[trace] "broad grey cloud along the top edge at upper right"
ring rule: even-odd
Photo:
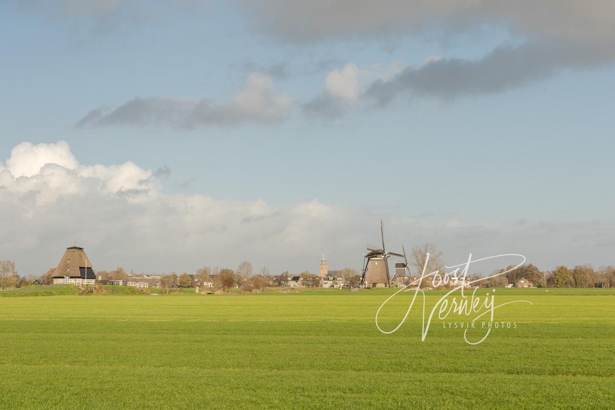
[[[240,4],[262,31],[292,42],[426,31],[453,35],[485,23],[534,39],[615,37],[611,0],[241,0]]]

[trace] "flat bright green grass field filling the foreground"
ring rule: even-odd
[[[0,298],[0,409],[615,406],[615,289],[499,289],[533,305],[498,309],[517,328],[475,346],[438,319],[421,342],[420,305],[380,333],[392,292]]]

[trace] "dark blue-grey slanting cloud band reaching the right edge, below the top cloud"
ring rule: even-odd
[[[379,104],[397,96],[457,98],[500,93],[546,79],[561,69],[592,68],[615,60],[611,44],[526,42],[501,45],[478,60],[443,58],[376,80],[365,95]]]

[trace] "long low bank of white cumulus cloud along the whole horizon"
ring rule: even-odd
[[[6,168],[0,165],[0,258],[14,259],[21,274],[42,274],[54,267],[63,248],[74,241],[86,248],[96,269],[121,265],[181,272],[206,264],[234,268],[247,259],[273,273],[315,271],[322,249],[331,268],[360,269],[365,244],[379,240],[381,217],[387,220],[390,249],[435,242],[454,263],[469,252],[523,253],[542,269],[558,263],[613,263],[615,230],[600,222],[403,218],[351,211],[317,199],[274,206],[261,200],[169,195],[154,172],[132,162],[81,164],[66,142],[24,142],[6,163]]]

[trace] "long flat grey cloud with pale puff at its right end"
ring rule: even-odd
[[[226,103],[206,99],[135,97],[115,109],[91,110],[76,123],[83,126],[234,126],[242,123],[279,123],[288,114],[292,100],[277,95],[273,82],[263,74],[252,74],[243,90]]]

